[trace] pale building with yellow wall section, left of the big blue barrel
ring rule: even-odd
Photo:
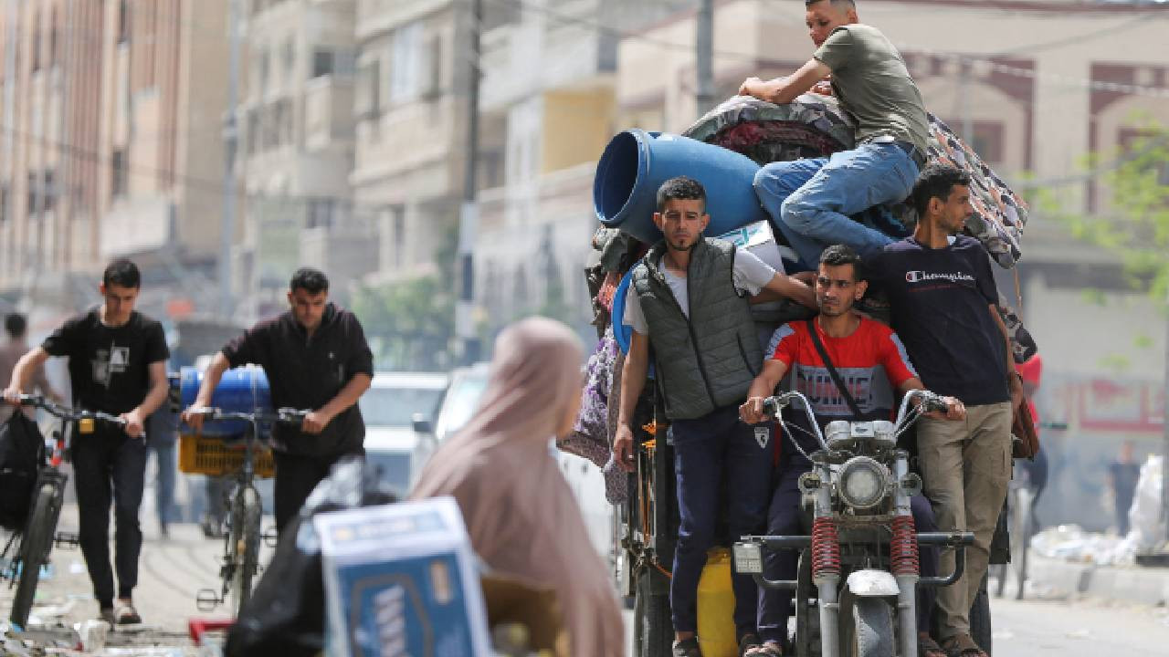
[[[479,321],[489,336],[534,312],[586,331],[593,174],[617,129],[620,34],[678,6],[526,2],[485,33],[480,108],[490,130],[480,158],[487,188],[479,199],[475,264]]]

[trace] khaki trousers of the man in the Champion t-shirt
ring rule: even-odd
[[[962,579],[938,589],[939,639],[970,632],[970,606],[987,574],[990,539],[1011,478],[1010,402],[971,406],[964,421],[918,422],[926,497],[943,532],[974,532]],[[941,553],[939,574],[954,572],[955,549]]]

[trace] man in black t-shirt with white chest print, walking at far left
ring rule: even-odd
[[[69,359],[72,402],[126,421],[125,428],[97,422],[92,434],[74,433],[74,484],[81,519],[81,551],[94,582],[101,617],[110,623],[139,623],[131,592],[138,583],[143,533],[138,507],[143,499],[146,441],[143,424],[164,401],[170,352],[162,325],[137,311],[141,288],[138,267],[125,258],[110,263],[98,291],[102,305],[65,321],[40,347],[16,364],[5,400],[15,402],[33,373],[50,355]],[[110,502],[113,502],[117,607],[110,569]]]

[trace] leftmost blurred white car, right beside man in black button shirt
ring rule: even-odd
[[[378,372],[358,406],[366,424],[366,462],[381,469],[381,478],[406,497],[421,465],[414,463],[420,443],[447,393],[448,376],[438,373]]]

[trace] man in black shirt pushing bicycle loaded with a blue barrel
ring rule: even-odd
[[[328,303],[328,279],[316,269],[298,269],[289,284],[291,309],[265,319],[215,354],[203,373],[195,402],[182,419],[195,430],[212,393],[230,367],[264,368],[277,408],[312,413],[299,428],[272,428],[276,456],[276,531],[283,532],[312,489],[340,457],[362,455],[365,422],[358,399],[373,380],[373,353],[361,323]]]

